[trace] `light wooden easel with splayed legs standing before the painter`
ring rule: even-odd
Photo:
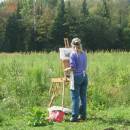
[[[69,41],[68,38],[64,38],[64,45],[65,48],[69,48]],[[67,67],[68,61],[62,61],[63,68],[65,69]],[[53,101],[55,98],[59,95],[62,95],[62,107],[64,106],[64,95],[65,95],[65,85],[69,82],[69,80],[66,78],[65,74],[64,77],[57,77],[51,79],[51,87],[49,90],[49,95],[51,95],[51,100],[48,104],[49,107],[52,106]]]

